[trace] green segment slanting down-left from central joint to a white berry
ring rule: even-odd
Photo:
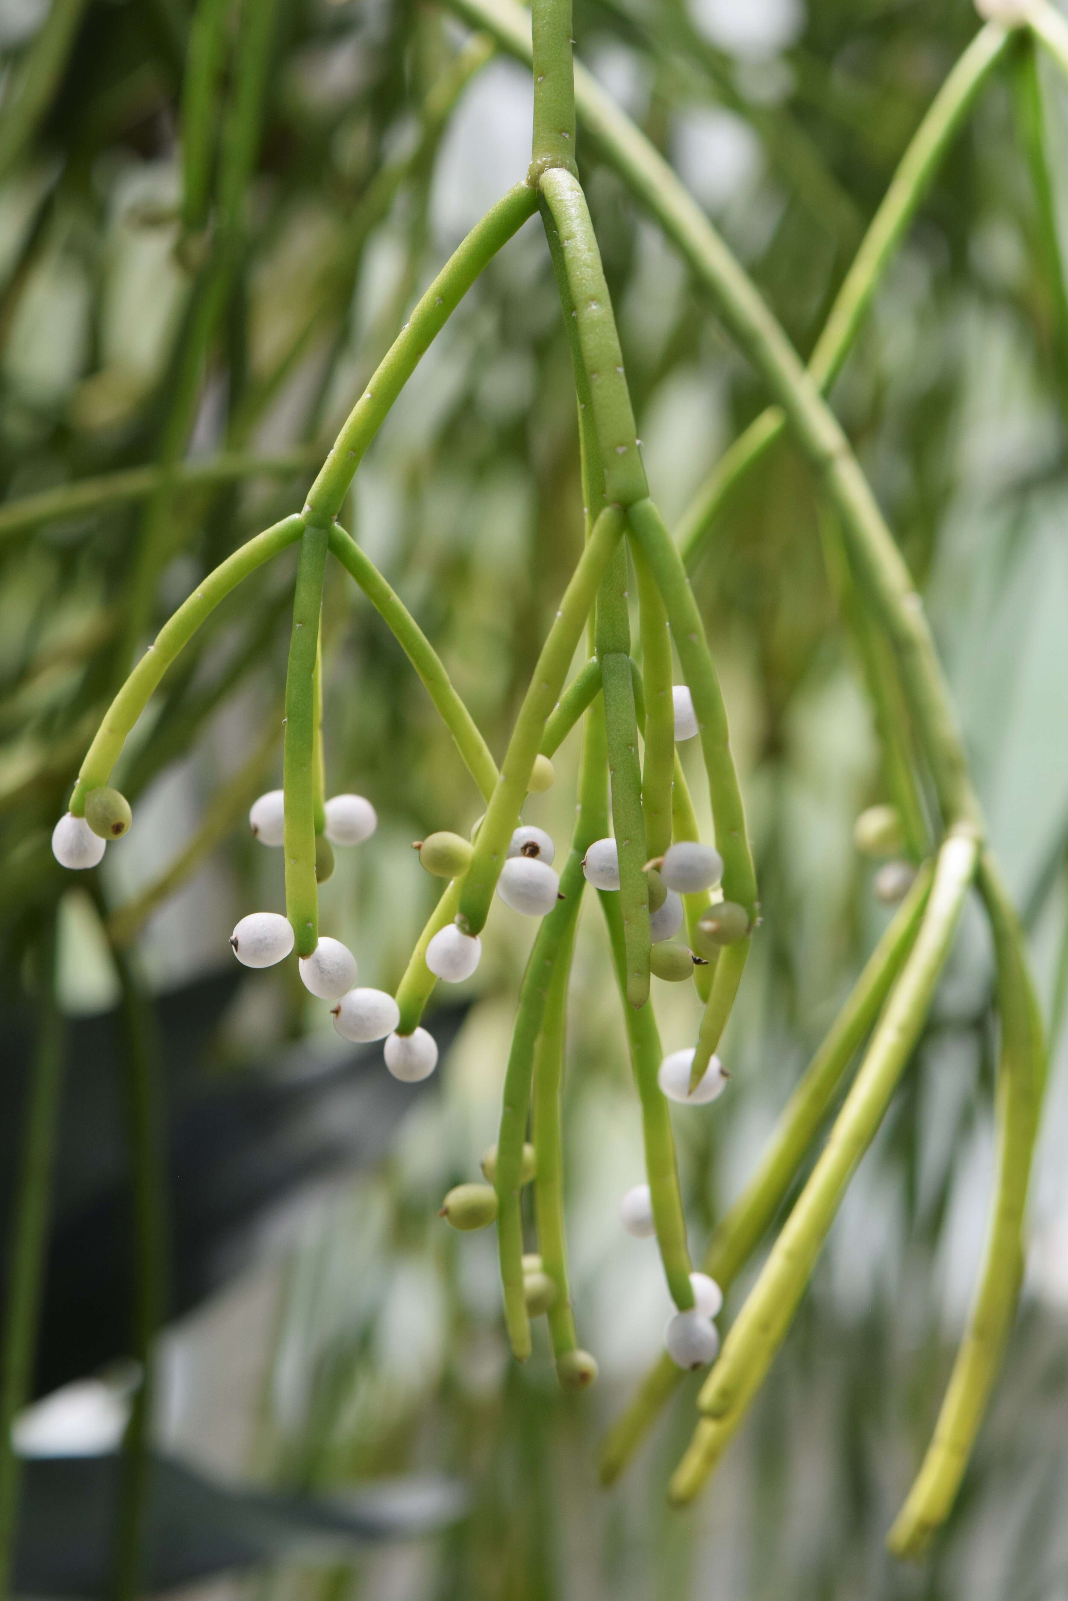
[[[496,879],[504,865],[519,809],[530,788],[530,770],[544,736],[549,716],[560,696],[567,669],[594,604],[597,586],[623,532],[623,516],[607,508],[583,549],[560,608],[541,647],[530,687],[516,719],[501,762],[501,778],[487,807],[460,897],[460,916],[469,933],[480,933],[490,911]]]

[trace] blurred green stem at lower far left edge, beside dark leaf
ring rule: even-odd
[[[48,1246],[48,1198],[62,1092],[64,1023],[56,1004],[54,917],[50,917],[30,954],[37,1039],[24,1090],[0,1350],[0,1601],[8,1601],[11,1593],[21,1481],[11,1428],[29,1401],[34,1383]]]

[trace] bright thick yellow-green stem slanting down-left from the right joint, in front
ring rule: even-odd
[[[713,1471],[786,1335],[845,1186],[916,1047],[977,860],[978,844],[970,833],[950,834],[938,852],[916,943],[865,1061],[823,1154],[701,1390],[698,1406],[705,1420],[671,1479],[676,1503],[692,1500]]]

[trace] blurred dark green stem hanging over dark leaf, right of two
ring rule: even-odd
[[[125,1101],[133,1180],[133,1356],[141,1367],[141,1383],[123,1439],[114,1596],[115,1601],[135,1601],[141,1590],[152,1468],[154,1343],[167,1316],[168,1295],[167,1140],[160,1103],[162,1049],[155,1015],[131,959],[115,946],[112,956],[122,985]]]

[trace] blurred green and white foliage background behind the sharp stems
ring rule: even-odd
[[[227,11],[224,115],[255,10],[235,0]],[[291,560],[219,610],[154,701],[118,776],[136,823],[99,884],[74,884],[51,863],[48,833],[114,684],[147,519],[163,528],[146,618],[159,623],[242,538],[299,508],[315,451],[415,296],[528,160],[528,75],[488,48],[468,43],[458,58],[469,35],[447,13],[407,0],[267,10],[232,264],[189,376],[183,355],[221,248],[218,223],[213,234],[181,218],[194,6],[0,0],[0,517],[22,496],[154,461],[290,461],[239,482],[179,484],[162,503],[0,527],[8,1191],[34,1025],[27,953],[53,908],[69,1020],[38,1399],[19,1418],[19,1451],[30,1462],[112,1451],[138,1383],[118,949],[155,999],[170,1130],[160,1452],[213,1483],[271,1492],[271,1507],[290,1494],[344,1505],[360,1486],[412,1475],[469,1494],[468,1516],[445,1532],[351,1548],[279,1534],[269,1563],[205,1577],[191,1595],[1060,1601],[1068,1061],[1055,1033],[1006,1370],[932,1555],[901,1567],[882,1553],[982,1244],[993,1033],[978,916],[966,919],[748,1425],[700,1503],[674,1513],[663,1491],[689,1436],[690,1385],[624,1481],[596,1484],[597,1439],[658,1353],[669,1311],[655,1247],[618,1223],[620,1194],[642,1177],[640,1127],[596,906],[581,922],[565,1087],[576,1313],[600,1364],[581,1398],[557,1391],[543,1334],[522,1372],[509,1361],[492,1231],[460,1238],[436,1215],[495,1137],[530,925],[495,906],[476,980],[431,1025],[452,1044],[420,1092],[395,1093],[375,1049],[344,1047],[291,964],[234,970],[235,919],[282,905],[279,853],[255,844],[243,817],[280,780]],[[575,11],[578,56],[668,154],[805,354],[977,26],[964,0],[578,0]],[[19,74],[40,62],[48,27],[59,38],[51,78],[16,138]],[[1058,184],[1068,90],[1046,64],[1041,83]],[[434,93],[440,115],[420,134]],[[1063,352],[1018,134],[1002,72],[887,272],[833,403],[925,592],[1057,1031],[1068,981]],[[588,147],[578,158],[650,482],[673,520],[767,397],[615,175]],[[570,365],[536,219],[421,363],[346,516],[500,756],[581,540]],[[887,913],[850,841],[857,813],[885,799],[871,711],[823,572],[815,485],[789,442],[716,525],[695,588],[764,905],[725,1042],[730,1093],[676,1116],[700,1250]],[[379,828],[338,853],[323,929],[355,951],[363,983],[392,988],[434,893],[410,842],[466,833],[479,797],[338,568],[325,648],[328,791],[367,794]],[[570,833],[575,744],[525,813],[557,845]],[[693,780],[695,756],[685,751]],[[701,783],[693,789],[700,797]],[[173,863],[173,885],[160,885]],[[695,997],[655,988],[666,1044],[689,1042]],[[58,1539],[59,1523],[51,1529]]]

